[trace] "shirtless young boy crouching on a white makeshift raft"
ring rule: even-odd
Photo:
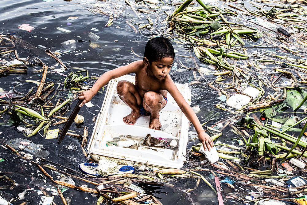
[[[167,93],[174,98],[182,112],[194,125],[199,141],[204,150],[210,151],[213,141],[204,132],[196,114],[177,89],[169,71],[172,67],[175,52],[167,38],[156,37],[149,40],[145,46],[144,58],[116,69],[103,73],[89,90],[79,94],[83,100],[80,107],[89,102],[92,97],[111,79],[135,73],[135,85],[128,81],[119,81],[117,93],[130,108],[131,113],[123,118],[126,124],[134,125],[140,115],[150,116],[149,128],[158,130],[161,127],[159,112],[167,103]]]

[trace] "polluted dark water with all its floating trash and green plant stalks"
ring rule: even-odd
[[[305,204],[305,0],[0,5],[0,204]],[[189,85],[218,160],[203,154],[192,125],[180,169],[88,153],[107,85],[58,144],[78,93],[142,60],[157,36],[174,47],[169,75]],[[178,149],[147,134],[104,143]]]

